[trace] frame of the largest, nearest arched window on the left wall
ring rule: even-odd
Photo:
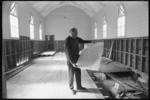
[[[14,6],[13,6],[13,8],[11,9],[11,7],[12,7],[12,5],[14,4]],[[11,11],[14,9],[14,7],[15,7],[15,11],[16,11],[16,15],[15,14],[12,14],[11,13]],[[16,37],[16,36],[12,36],[12,32],[11,32],[11,28],[12,28],[12,26],[11,26],[11,19],[10,19],[10,16],[13,16],[13,17],[16,17],[17,18],[17,22],[18,22],[18,36]],[[10,38],[11,39],[19,39],[20,38],[20,25],[19,25],[19,16],[18,16],[18,4],[17,4],[17,2],[11,2],[10,3],[10,6],[9,6],[9,11],[8,11],[8,21],[9,21],[9,32],[10,32],[10,34],[9,34],[9,36],[10,36]]]

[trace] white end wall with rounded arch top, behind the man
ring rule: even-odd
[[[91,18],[81,9],[63,6],[52,11],[45,18],[47,35],[54,35],[55,40],[64,40],[72,27],[78,29],[78,36],[91,39]]]

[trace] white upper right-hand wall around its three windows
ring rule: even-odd
[[[121,2],[120,2],[121,3]],[[119,4],[119,3],[118,3]],[[98,39],[103,39],[103,16],[105,15],[108,21],[108,35],[107,38],[117,37],[117,17],[118,4],[110,4],[99,11],[92,19],[98,24]],[[148,33],[148,2],[146,1],[124,1],[124,7],[127,12],[127,24],[125,37],[144,37],[149,36]],[[92,27],[92,35],[94,39],[94,27]]]

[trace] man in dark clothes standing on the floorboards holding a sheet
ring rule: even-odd
[[[70,35],[65,40],[65,53],[67,56],[67,65],[69,68],[69,88],[72,93],[75,94],[73,79],[74,74],[76,78],[76,84],[78,90],[86,90],[86,88],[81,85],[81,69],[77,68],[77,61],[79,58],[79,43],[91,43],[92,41],[86,41],[78,37],[78,31],[76,28],[72,28]]]

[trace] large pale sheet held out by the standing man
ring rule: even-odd
[[[98,71],[100,67],[101,56],[103,53],[103,43],[87,43],[80,52],[77,66],[81,69]]]

